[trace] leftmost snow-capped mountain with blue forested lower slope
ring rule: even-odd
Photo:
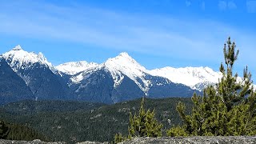
[[[67,98],[67,86],[42,53],[29,53],[21,46],[15,46],[2,54],[2,58],[26,82],[36,99]]]

